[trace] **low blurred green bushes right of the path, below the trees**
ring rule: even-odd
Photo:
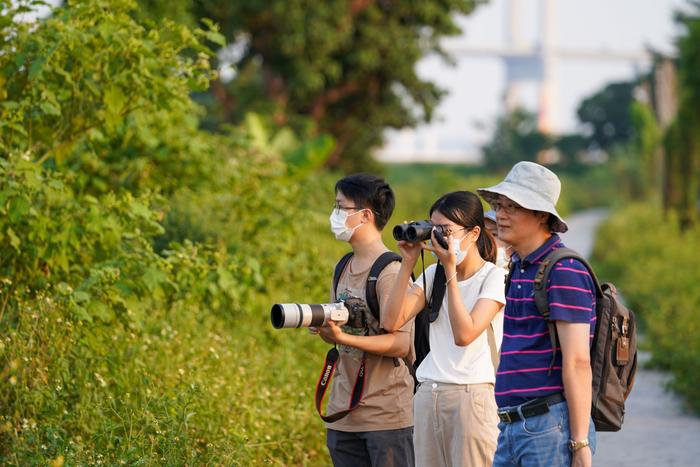
[[[659,207],[630,205],[601,227],[594,248],[599,276],[614,281],[637,313],[653,363],[700,413],[700,229],[680,232]]]

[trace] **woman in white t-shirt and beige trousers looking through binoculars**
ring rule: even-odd
[[[444,234],[447,248],[435,231],[430,245],[398,242],[403,262],[383,322],[387,331],[399,329],[426,306],[437,265],[413,285],[410,279],[421,249],[433,252],[444,268],[438,280],[446,282],[442,303],[435,303],[431,313],[430,352],[416,370],[416,464],[491,465],[498,438],[494,365],[502,340],[506,271],[493,264],[496,243],[474,193],[442,196],[430,208],[430,220],[440,227],[434,230]]]

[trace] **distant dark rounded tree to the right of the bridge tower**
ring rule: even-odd
[[[634,102],[634,87],[633,82],[611,83],[581,102],[577,114],[590,133],[591,144],[609,150],[632,138],[630,106]]]

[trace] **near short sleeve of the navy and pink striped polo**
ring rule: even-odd
[[[573,258],[559,261],[549,275],[547,301],[550,319],[589,323],[595,315],[595,287],[586,266]]]

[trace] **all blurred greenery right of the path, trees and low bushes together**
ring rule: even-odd
[[[633,137],[613,148],[619,183],[636,203],[611,215],[594,255],[601,276],[620,286],[641,318],[652,363],[671,371],[672,387],[700,413],[700,270],[692,262],[700,247],[700,3],[677,19],[678,59],[660,59],[643,80],[648,102],[630,107]],[[677,88],[658,78],[676,70]],[[669,91],[677,102],[668,101]],[[664,105],[677,104],[675,116],[654,113],[663,113],[659,95]]]

